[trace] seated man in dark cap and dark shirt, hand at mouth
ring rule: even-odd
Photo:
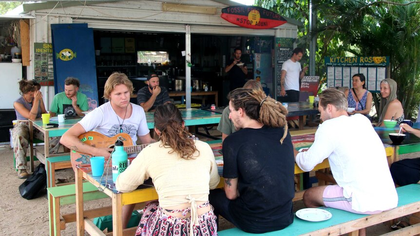
[[[154,110],[157,106],[170,103],[168,90],[159,86],[159,77],[156,73],[147,76],[147,86],[137,92],[137,104],[145,112]]]

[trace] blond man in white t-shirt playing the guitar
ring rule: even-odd
[[[92,156],[110,157],[111,148],[86,145],[78,136],[87,131],[96,131],[108,137],[118,133],[128,133],[135,144],[137,137],[142,144],[155,143],[149,134],[146,114],[142,107],[130,103],[133,94],[133,83],[124,73],[113,73],[105,83],[104,98],[109,102],[101,105],[76,125],[67,130],[60,139],[60,143],[72,150]],[[134,205],[123,207],[123,225],[126,227]]]

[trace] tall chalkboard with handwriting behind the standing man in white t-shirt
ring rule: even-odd
[[[282,66],[283,63],[290,59],[293,54],[293,42],[295,38],[277,37],[275,50],[276,50],[276,94],[280,96],[282,91]]]

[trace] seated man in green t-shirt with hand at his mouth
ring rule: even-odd
[[[75,77],[67,77],[64,80],[64,92],[57,93],[54,96],[50,107],[51,116],[64,114],[69,116],[83,116],[83,111],[89,109],[88,99],[85,94],[77,92],[80,82]]]

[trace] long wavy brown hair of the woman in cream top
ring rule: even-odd
[[[160,105],[154,111],[154,127],[161,133],[159,140],[162,141],[161,147],[171,147],[169,154],[178,153],[181,158],[186,160],[195,159],[200,155],[194,144],[194,140],[190,139],[191,133],[187,132],[183,126],[181,112],[172,103]],[[197,156],[194,153],[197,151]]]

